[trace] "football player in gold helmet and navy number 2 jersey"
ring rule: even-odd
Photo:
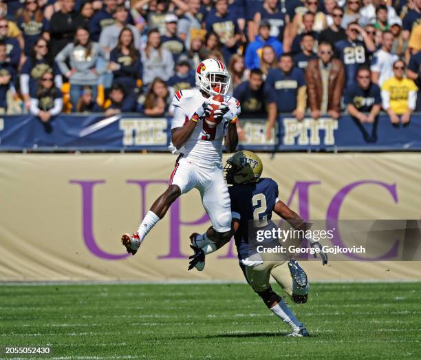
[[[228,188],[231,200],[232,227],[235,238],[235,245],[239,257],[239,266],[246,277],[248,284],[261,297],[263,302],[270,308],[272,313],[277,315],[286,324],[290,325],[292,332],[290,336],[309,336],[305,326],[296,319],[292,310],[288,308],[282,297],[272,290],[270,286],[270,275],[283,288],[292,301],[305,303],[307,301],[308,281],[307,275],[294,259],[288,261],[288,255],[265,256],[264,253],[255,251],[254,234],[250,236],[250,220],[254,221],[254,228],[268,229],[274,224],[270,221],[272,211],[287,220],[294,229],[307,230],[306,222],[292,211],[278,198],[278,185],[270,178],[260,178],[263,171],[263,164],[255,153],[251,151],[239,151],[227,160],[224,167],[226,180],[233,186]],[[323,253],[321,244],[307,239],[312,248],[316,248],[321,255],[323,265],[327,264],[327,256]],[[191,235],[191,248],[195,251],[191,255],[190,266],[204,267],[205,256],[215,251],[210,246],[201,246],[201,238],[197,233]],[[268,239],[268,242],[274,242]],[[222,247],[226,242],[217,244]],[[262,243],[259,243],[262,244]],[[316,255],[314,255],[315,257]],[[287,270],[289,268],[289,271]],[[291,282],[292,277],[292,282]]]

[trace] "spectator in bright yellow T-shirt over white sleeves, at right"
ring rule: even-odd
[[[393,63],[394,76],[382,85],[382,106],[389,114],[392,124],[409,123],[417,104],[418,87],[412,80],[404,77],[405,63],[396,60]],[[400,116],[400,118],[399,118]]]

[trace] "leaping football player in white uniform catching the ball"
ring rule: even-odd
[[[228,151],[237,147],[237,116],[239,101],[226,95],[230,74],[222,61],[206,59],[196,70],[199,89],[182,90],[173,98],[174,115],[171,124],[170,150],[178,153],[171,173],[169,187],[155,200],[151,209],[133,235],[122,235],[127,252],[135,254],[144,237],[164,217],[171,204],[182,194],[195,188],[202,197],[204,209],[212,226],[195,238],[199,248],[216,249],[216,243],[226,242],[232,235],[230,195],[222,172],[222,142]],[[213,96],[222,95],[224,101],[215,103]],[[217,109],[212,105],[219,105]],[[206,122],[212,114],[215,124]],[[220,121],[220,123],[218,123]],[[199,270],[204,262],[196,266]]]

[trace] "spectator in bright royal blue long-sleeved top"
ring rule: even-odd
[[[248,69],[260,67],[261,48],[264,45],[271,45],[277,57],[281,56],[283,53],[282,43],[273,36],[270,36],[270,23],[267,20],[260,21],[259,35],[256,36],[255,41],[248,44],[248,47],[246,48],[244,61]]]

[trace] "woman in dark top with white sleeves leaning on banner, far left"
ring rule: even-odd
[[[61,91],[54,86],[54,74],[47,70],[40,78],[36,96],[31,97],[30,113],[38,116],[43,123],[48,123],[62,109]]]

